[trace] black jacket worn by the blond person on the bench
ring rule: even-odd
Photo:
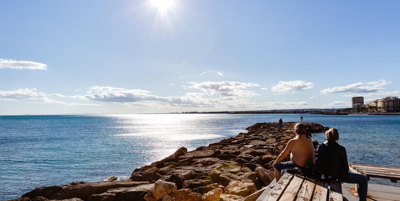
[[[316,173],[324,174],[339,179],[340,181],[352,181],[349,175],[346,148],[337,142],[324,142],[318,148],[318,157],[314,168]]]

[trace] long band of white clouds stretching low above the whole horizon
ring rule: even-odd
[[[381,86],[389,84],[386,80],[378,80],[368,82],[369,86],[363,86],[361,82],[349,84],[344,87],[333,87],[320,90],[321,94],[334,93],[350,93],[360,92],[368,93],[364,96],[376,96],[382,94],[400,94],[400,91],[379,92],[372,94],[370,92],[378,92],[384,90]],[[120,104],[123,107],[129,108],[259,108],[259,109],[299,109],[309,106],[307,101],[254,101],[252,98],[260,96],[254,90],[260,87],[260,84],[249,82],[187,82],[188,85],[181,86],[187,92],[183,95],[175,96],[156,96],[150,91],[140,89],[115,88],[108,86],[93,86],[84,95],[63,95],[60,93],[46,94],[45,92],[36,92],[36,88],[24,88],[14,91],[0,91],[0,101],[30,101],[39,103],[51,103],[59,105],[81,105],[81,106],[108,106],[109,103]],[[171,84],[170,84],[171,85]],[[171,85],[172,86],[172,85]],[[272,92],[292,92],[305,91],[312,88],[314,85],[311,82],[304,81],[281,81],[271,88]],[[192,92],[196,90],[197,92]],[[260,88],[260,90],[268,90]],[[74,90],[79,92],[80,90]],[[359,94],[346,94],[359,95]],[[345,96],[346,96],[345,95]],[[279,96],[279,94],[275,94]],[[74,103],[68,101],[54,100],[54,98],[78,99],[85,102]],[[309,100],[315,100],[312,96]],[[372,100],[372,99],[371,99]],[[100,102],[100,103],[96,103]],[[350,102],[333,101],[324,103],[322,108],[340,108],[348,107]]]

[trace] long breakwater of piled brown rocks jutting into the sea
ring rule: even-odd
[[[137,168],[124,181],[75,182],[40,187],[18,201],[236,201],[274,179],[272,164],[295,134],[296,122],[256,123],[247,133],[172,155]],[[304,123],[308,133],[326,131]],[[314,145],[318,145],[314,141]],[[286,158],[290,160],[290,158]]]

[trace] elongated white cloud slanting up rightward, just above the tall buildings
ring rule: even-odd
[[[384,88],[380,88],[380,86],[384,86],[390,82],[386,82],[385,80],[378,80],[376,82],[368,82],[368,85],[372,86],[363,86],[362,82],[357,82],[353,84],[349,84],[342,87],[333,87],[321,90],[322,94],[336,94],[336,93],[370,93],[370,92],[378,92],[385,90]]]

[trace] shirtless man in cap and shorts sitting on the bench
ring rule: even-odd
[[[306,126],[302,123],[294,125],[294,133],[296,137],[288,141],[285,149],[279,154],[272,167],[275,170],[276,182],[280,179],[282,169],[295,167],[312,167],[315,163],[314,145],[311,139],[306,137]],[[290,152],[290,160],[288,162],[279,163]]]

